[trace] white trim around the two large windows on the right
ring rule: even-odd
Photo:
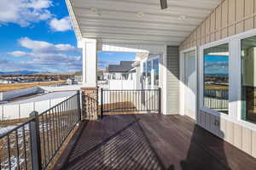
[[[200,46],[199,52],[199,109],[214,116],[219,116],[230,122],[247,127],[256,131],[256,124],[241,120],[241,39],[256,36],[256,29],[241,32],[231,37],[226,37],[216,42],[210,42]],[[230,59],[229,59],[229,115],[208,109],[203,106],[203,50],[229,42]],[[232,102],[232,100],[235,100]]]

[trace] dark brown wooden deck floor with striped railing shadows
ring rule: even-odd
[[[241,169],[256,160],[185,116],[111,115],[83,122],[55,169]]]

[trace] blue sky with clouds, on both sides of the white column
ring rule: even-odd
[[[81,49],[76,47],[64,0],[0,1],[0,71],[79,71]],[[98,53],[100,68],[134,58]]]

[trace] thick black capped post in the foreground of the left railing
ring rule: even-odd
[[[38,112],[32,111],[29,115],[32,122],[30,122],[30,138],[31,138],[31,150],[32,150],[32,169],[42,169],[41,158],[41,144],[40,144],[40,131],[39,131],[39,118]]]

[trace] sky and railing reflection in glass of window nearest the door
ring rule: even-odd
[[[229,113],[229,43],[204,49],[204,106]]]

